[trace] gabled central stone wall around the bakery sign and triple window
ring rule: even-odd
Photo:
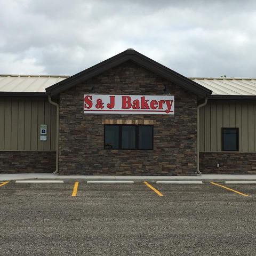
[[[84,114],[84,94],[170,94],[175,97],[175,115]],[[109,69],[60,93],[59,172],[195,175],[196,108],[195,94],[183,91],[178,85],[133,62]],[[134,123],[137,120],[140,124],[145,119],[154,123],[154,150],[103,149],[104,120],[113,123]]]

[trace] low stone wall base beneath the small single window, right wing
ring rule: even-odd
[[[200,171],[204,174],[256,174],[256,153],[201,152],[199,158]]]

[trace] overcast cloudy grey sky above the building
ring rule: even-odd
[[[255,0],[0,0],[0,35],[0,74],[73,75],[133,48],[185,76],[256,77]]]

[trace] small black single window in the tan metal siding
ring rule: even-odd
[[[222,151],[239,151],[238,128],[222,128]]]

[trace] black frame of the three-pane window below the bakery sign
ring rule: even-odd
[[[106,139],[106,126],[118,126],[118,148],[106,148],[105,139]],[[122,148],[122,126],[135,126],[135,148]],[[139,127],[148,126],[152,130],[152,147],[151,148],[139,148]],[[154,150],[154,125],[151,124],[105,124],[104,125],[104,139],[103,139],[103,148],[108,150]]]

